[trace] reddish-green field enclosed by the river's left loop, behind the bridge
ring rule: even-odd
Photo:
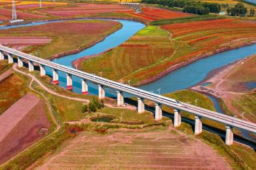
[[[33,45],[24,50],[27,53],[38,52],[39,57],[46,59],[61,52],[89,47],[119,28],[121,28],[121,24],[114,21],[66,21],[0,30],[0,37],[51,38],[48,45]]]

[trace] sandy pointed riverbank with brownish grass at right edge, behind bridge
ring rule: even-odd
[[[249,90],[244,85],[247,81],[256,81],[256,72],[253,69],[255,58],[256,56],[252,55],[215,70],[191,89],[221,98],[230,113],[238,118],[242,118],[241,113],[245,113],[245,120],[255,123],[255,89]],[[206,83],[207,86],[201,86]]]

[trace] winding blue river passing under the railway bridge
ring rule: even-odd
[[[88,20],[88,19],[76,19],[76,20]],[[9,29],[9,28],[18,28],[23,26],[38,26],[46,23],[56,23],[56,22],[63,22],[67,20],[59,20],[59,21],[42,21],[38,23],[28,23],[18,26],[4,26],[0,29]],[[122,23],[122,28],[117,30],[116,32],[108,35],[105,40],[102,42],[98,42],[97,44],[89,47],[81,52],[68,55],[65,57],[61,57],[59,59],[54,60],[53,62],[57,62],[59,64],[63,64],[68,67],[72,67],[73,60],[76,60],[80,57],[96,55],[105,50],[109,50],[110,48],[117,47],[121,45],[123,42],[128,40],[132,35],[137,33],[139,30],[145,27],[144,24],[136,22],[136,21],[127,21],[127,20],[111,20],[111,21],[118,21]],[[235,50],[229,50],[226,52],[221,52],[216,55],[212,55],[210,57],[203,58],[201,60],[197,60],[192,64],[188,64],[180,69],[176,69],[174,72],[167,74],[165,77],[161,77],[152,83],[145,84],[143,86],[139,86],[140,89],[144,89],[147,91],[154,91],[156,89],[161,89],[161,94],[170,93],[172,91],[178,91],[182,89],[187,89],[188,87],[194,86],[198,84],[200,81],[206,78],[207,74],[211,72],[213,69],[218,67],[223,67],[230,62],[235,62],[240,60],[244,57],[254,55],[256,53],[256,44],[249,45],[245,47],[240,47]],[[52,71],[50,68],[46,68],[46,74],[52,76]],[[64,72],[58,72],[59,74],[59,81],[60,86],[66,88],[66,77]],[[104,74],[103,74],[104,75]],[[76,93],[81,92],[81,81],[78,77],[73,77],[73,91]],[[97,94],[97,85],[92,84],[89,82],[89,93],[90,94]],[[113,89],[106,89],[107,96],[116,96],[116,92]],[[125,94],[126,96],[129,96]],[[209,96],[210,97],[210,96]],[[218,106],[218,102],[215,101],[215,98],[210,99],[215,103],[215,107],[218,112],[222,113]],[[247,135],[245,135],[247,136]],[[250,138],[247,136],[247,138]]]

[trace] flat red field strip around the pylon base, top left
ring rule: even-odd
[[[17,11],[18,19],[31,19],[31,18],[46,18],[45,16],[39,16],[33,13],[25,13]],[[0,8],[0,18],[3,20],[11,19],[11,9]]]

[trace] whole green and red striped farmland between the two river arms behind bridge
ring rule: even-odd
[[[114,50],[85,60],[80,68],[86,72],[102,71],[103,77],[117,81],[131,79],[132,84],[139,85],[181,62],[213,55],[220,48],[231,49],[256,39],[256,23],[252,21],[193,19],[186,18],[189,20],[186,23],[172,23],[161,28],[147,26]]]

